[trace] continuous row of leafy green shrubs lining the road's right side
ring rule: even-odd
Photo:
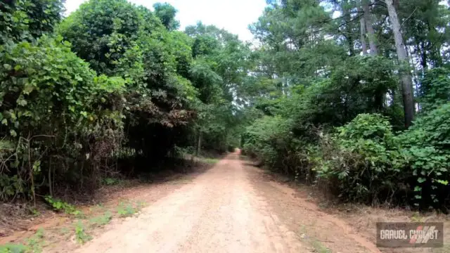
[[[397,135],[378,114],[358,115],[332,134],[319,130],[317,143],[288,138],[290,127],[281,117],[258,119],[243,150],[297,180],[316,179],[345,201],[427,208],[449,199],[450,104],[421,114]]]

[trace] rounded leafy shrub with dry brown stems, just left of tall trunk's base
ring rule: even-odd
[[[392,195],[401,167],[392,126],[381,115],[358,115],[338,127],[316,166],[319,180],[326,180],[342,199],[373,202]]]

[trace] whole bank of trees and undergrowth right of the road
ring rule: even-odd
[[[449,206],[449,5],[271,0],[244,151],[342,201]]]

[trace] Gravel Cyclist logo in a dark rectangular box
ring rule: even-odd
[[[443,247],[443,223],[377,223],[378,247]]]

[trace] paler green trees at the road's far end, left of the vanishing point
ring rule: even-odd
[[[201,22],[186,27],[185,32],[193,39],[188,75],[200,100],[194,103],[198,112],[195,143],[201,137],[201,148],[224,153],[229,144],[239,143],[242,126],[236,105],[240,101],[233,93],[247,81],[250,48],[235,35]]]

